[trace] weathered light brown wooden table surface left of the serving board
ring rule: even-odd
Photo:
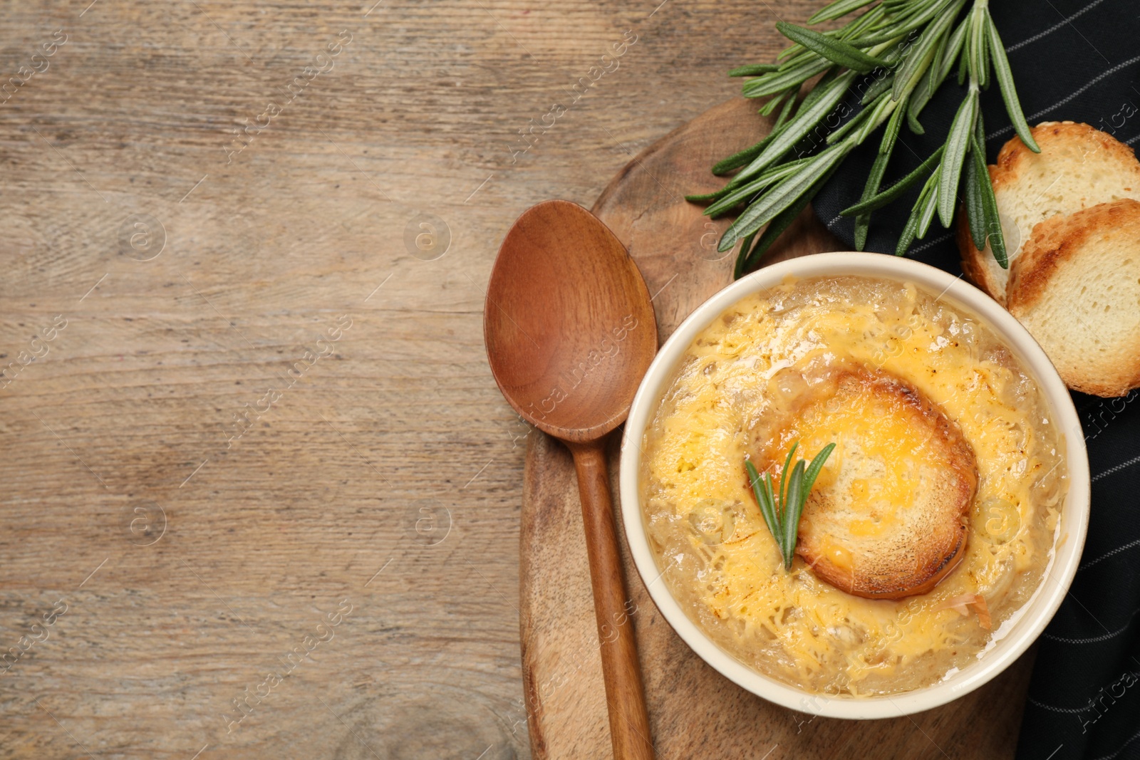
[[[0,757],[529,755],[495,253],[819,3],[373,1],[5,3]]]

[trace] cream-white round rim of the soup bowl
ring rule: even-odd
[[[930,686],[890,696],[828,697],[780,683],[752,670],[715,644],[681,608],[666,583],[657,583],[660,572],[645,536],[638,496],[641,439],[665,384],[677,361],[698,333],[728,307],[752,293],[779,285],[792,275],[799,279],[824,276],[879,277],[913,281],[927,291],[940,291],[968,313],[982,318],[1013,350],[1028,374],[1037,382],[1061,428],[1066,443],[1069,490],[1061,512],[1061,531],[1054,556],[1034,595],[1021,607],[1020,619],[996,645],[985,651],[976,663]],[[930,710],[983,686],[1013,663],[1036,640],[1052,619],[1076,574],[1089,525],[1089,459],[1084,433],[1068,389],[1037,342],[1003,307],[988,295],[940,269],[911,259],[880,253],[817,253],[781,261],[732,283],[698,307],[669,336],[650,365],[629,408],[621,439],[619,496],[626,539],[634,564],[658,610],[678,636],[705,662],[742,688],[791,710],[826,718],[895,718]]]

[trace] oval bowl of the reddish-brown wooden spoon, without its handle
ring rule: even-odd
[[[621,424],[657,353],[637,265],[605,224],[567,201],[527,210],[507,232],[483,334],[506,400],[567,441],[595,440]]]

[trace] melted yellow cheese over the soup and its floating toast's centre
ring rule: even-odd
[[[821,366],[839,362],[906,379],[974,448],[979,479],[966,556],[929,594],[850,596],[799,558],[784,572],[748,490],[748,441],[777,434],[771,420],[811,391]],[[885,455],[919,448],[906,443],[913,431],[876,403],[805,414],[796,425],[798,456],[811,458],[837,431]],[[988,328],[912,285],[856,277],[787,281],[728,309],[690,346],[643,449],[651,546],[687,614],[760,672],[832,695],[918,688],[978,656],[1040,583],[1067,485],[1048,407]],[[920,465],[901,461],[852,482],[881,507],[880,522],[863,525],[868,534],[887,530],[881,521],[914,501],[922,483],[905,473]],[[841,458],[829,460],[819,482],[840,466]],[[832,558],[842,563],[842,551],[837,546]],[[993,631],[972,608],[963,615],[961,605],[946,605],[967,594],[985,597]]]

